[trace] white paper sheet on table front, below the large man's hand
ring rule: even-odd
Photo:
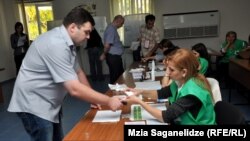
[[[99,110],[92,122],[118,122],[121,117],[121,110]]]

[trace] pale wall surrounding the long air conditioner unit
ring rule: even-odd
[[[219,50],[226,33],[230,30],[237,32],[238,38],[248,39],[250,34],[249,5],[249,0],[155,0],[155,7],[157,7],[157,11],[155,11],[156,25],[161,29],[161,35],[163,35],[163,14],[219,10],[219,37],[172,40],[180,47],[189,48],[195,43],[202,42],[207,47]]]

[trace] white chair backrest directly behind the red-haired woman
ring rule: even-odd
[[[220,86],[219,86],[219,82],[214,79],[214,78],[210,78],[210,77],[207,77],[207,80],[211,86],[211,89],[212,89],[212,94],[213,94],[213,102],[214,104],[218,101],[221,101],[222,98],[221,98],[221,92],[220,92]]]

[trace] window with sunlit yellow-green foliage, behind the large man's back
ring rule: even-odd
[[[24,11],[22,5],[19,4],[20,17],[23,23],[26,23],[30,40],[34,40],[37,36],[47,31],[47,21],[53,21],[53,9],[50,2],[46,3],[24,3]],[[22,15],[25,15],[25,19]]]

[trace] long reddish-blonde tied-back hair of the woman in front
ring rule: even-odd
[[[172,52],[165,59],[165,63],[168,64],[168,62],[172,62],[179,70],[187,69],[187,74],[184,76],[185,82],[194,78],[197,85],[208,90],[213,98],[211,86],[206,77],[199,73],[199,62],[190,50],[181,48]]]

